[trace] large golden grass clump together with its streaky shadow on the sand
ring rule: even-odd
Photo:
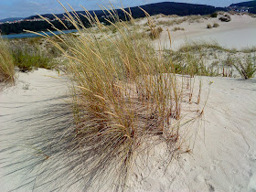
[[[155,52],[150,38],[140,39],[130,13],[123,10],[130,18],[123,22],[112,7],[106,11],[112,15],[111,27],[89,12],[85,16],[101,38],[68,11],[67,19],[80,36],[55,36],[57,40],[44,36],[69,60],[66,73],[73,85],[68,103],[48,106],[33,120],[22,120],[37,131],[23,135],[21,143],[29,141],[27,148],[37,155],[25,152],[17,162],[5,165],[19,166],[7,175],[35,172],[27,181],[34,189],[70,190],[80,184],[76,190],[124,190],[137,156],[146,155],[156,144],[165,144],[169,161],[190,152],[184,144],[189,134],[185,125],[203,113],[197,106],[201,90],[192,104],[191,78],[176,76],[173,63]],[[158,37],[161,31],[145,14],[152,37]],[[113,29],[116,35],[111,37]],[[195,105],[194,111],[183,110],[187,103]]]

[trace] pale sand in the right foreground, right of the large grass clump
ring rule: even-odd
[[[203,78],[205,91],[209,81],[192,154],[181,155],[166,172],[155,160],[152,173],[134,176],[133,191],[256,190],[256,80]]]

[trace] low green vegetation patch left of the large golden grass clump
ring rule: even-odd
[[[58,42],[59,47],[68,51],[69,48],[66,43],[59,40],[61,36],[69,39],[77,37],[72,34],[50,37],[51,40]],[[59,65],[62,64],[57,61],[62,57],[62,52],[42,37],[12,39],[10,41],[12,44],[10,52],[15,66],[20,71],[27,72],[37,68],[59,69]]]

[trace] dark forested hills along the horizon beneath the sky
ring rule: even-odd
[[[141,7],[145,11],[147,11],[151,16],[154,16],[157,14],[178,15],[178,16],[208,15],[208,14],[214,13],[215,11],[224,10],[224,8],[214,7],[210,5],[193,5],[193,4],[173,3],[173,2],[142,5]],[[116,11],[121,19],[125,19],[122,10],[117,9]],[[129,11],[129,9],[126,8],[126,11]],[[132,7],[131,11],[134,18],[144,17],[144,12],[138,6]],[[101,17],[104,15],[104,13],[101,10],[97,10],[94,12],[97,16],[99,16],[101,22],[105,22],[104,18]],[[84,11],[79,11],[77,13],[85,14]],[[91,14],[94,15],[93,11],[91,11]],[[54,16],[50,14],[46,14],[42,16],[48,17],[49,19],[54,18]],[[57,16],[62,18],[64,15],[59,14]],[[39,16],[29,16],[27,17],[27,19],[33,19],[38,17]],[[83,16],[81,16],[81,20],[83,21],[85,26],[89,26],[87,20]],[[64,27],[62,27],[58,21],[55,21],[54,24],[59,29],[64,29]],[[3,35],[22,33],[24,29],[32,30],[32,31],[45,31],[47,29],[52,29],[52,28],[45,21],[20,22],[16,24],[0,25],[0,31],[2,31]]]

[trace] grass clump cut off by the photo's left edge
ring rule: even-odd
[[[8,43],[0,37],[0,82],[15,80],[15,67]]]

